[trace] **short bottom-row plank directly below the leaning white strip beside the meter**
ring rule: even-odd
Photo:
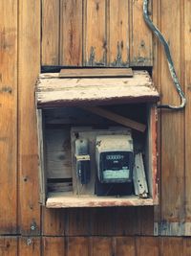
[[[139,237],[136,247],[138,256],[159,256],[159,238]]]

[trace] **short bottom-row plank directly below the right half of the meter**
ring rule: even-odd
[[[119,255],[119,256],[136,256],[135,238],[133,237],[116,238],[115,250],[116,250],[116,255]]]

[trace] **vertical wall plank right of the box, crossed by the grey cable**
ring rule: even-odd
[[[170,43],[180,78],[180,1],[161,0],[161,32]],[[176,15],[174,15],[176,13]],[[173,23],[171,19],[173,17]],[[176,30],[175,30],[176,28]],[[161,57],[161,102],[177,104],[180,99],[169,74],[164,53]],[[161,219],[183,221],[184,128],[182,111],[161,113]]]

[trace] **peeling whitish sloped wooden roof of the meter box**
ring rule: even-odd
[[[36,86],[38,107],[156,102],[159,93],[147,72],[133,78],[40,79]]]

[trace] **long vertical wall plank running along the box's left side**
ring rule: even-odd
[[[39,234],[38,150],[34,86],[40,70],[40,0],[19,0],[19,225]]]

